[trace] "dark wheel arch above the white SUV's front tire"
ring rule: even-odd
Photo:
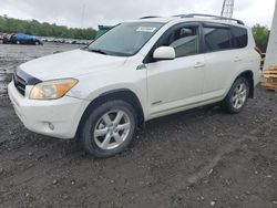
[[[136,94],[129,89],[119,89],[119,90],[113,90],[113,91],[102,93],[88,105],[88,107],[85,108],[81,117],[81,121],[79,122],[78,133],[80,132],[80,127],[84,124],[84,122],[90,115],[90,112],[93,108],[98,107],[104,102],[114,101],[114,100],[122,100],[131,104],[136,112],[138,126],[142,126],[144,124],[143,107]]]

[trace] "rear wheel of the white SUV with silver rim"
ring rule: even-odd
[[[238,77],[223,101],[222,108],[229,114],[240,113],[247,104],[249,89],[249,81],[243,76]]]

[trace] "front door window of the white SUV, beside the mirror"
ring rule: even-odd
[[[172,46],[175,49],[176,58],[195,55],[199,49],[198,27],[182,27],[172,31],[163,46]]]

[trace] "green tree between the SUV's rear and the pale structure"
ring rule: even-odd
[[[253,28],[254,39],[257,46],[265,53],[267,49],[267,43],[269,39],[270,31],[267,27],[255,24]]]

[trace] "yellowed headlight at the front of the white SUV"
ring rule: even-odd
[[[75,84],[78,80],[64,79],[45,81],[34,85],[29,98],[31,100],[55,100],[64,96]]]

